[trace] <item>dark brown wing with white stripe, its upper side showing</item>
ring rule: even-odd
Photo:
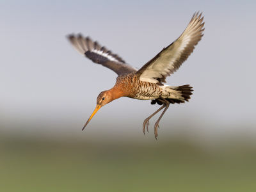
[[[125,63],[122,58],[117,54],[113,54],[111,51],[106,49],[106,47],[102,47],[97,42],[93,42],[89,37],[84,38],[81,34],[77,36],[69,35],[68,40],[70,40],[73,47],[81,55],[86,56],[94,63],[99,63],[104,67],[110,68],[116,72],[118,76],[136,72],[138,70],[137,68]]]

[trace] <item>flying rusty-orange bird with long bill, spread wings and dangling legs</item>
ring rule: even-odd
[[[161,50],[152,60],[148,61],[140,69],[125,63],[117,54],[113,54],[106,47],[102,47],[97,41],[81,33],[68,35],[67,38],[74,49],[81,55],[89,58],[94,63],[107,67],[118,75],[116,84],[110,90],[100,92],[97,97],[97,106],[84,125],[88,125],[95,113],[109,102],[120,97],[129,97],[139,100],[151,100],[151,104],[159,104],[161,108],[148,116],[143,122],[143,133],[149,126],[149,120],[159,111],[164,109],[154,125],[154,136],[157,139],[159,122],[169,108],[170,104],[184,103],[191,99],[193,92],[189,84],[182,86],[166,85],[166,77],[176,72],[180,65],[188,59],[195,49],[195,45],[201,40],[204,31],[204,17],[202,13],[194,13],[187,28],[172,44]],[[84,127],[82,130],[84,130]]]

